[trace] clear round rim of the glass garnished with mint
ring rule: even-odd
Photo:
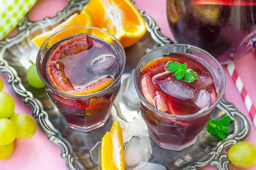
[[[198,111],[197,113],[195,114],[192,114],[192,115],[173,115],[173,114],[170,114],[170,113],[165,113],[165,112],[162,112],[160,110],[158,110],[157,108],[154,108],[150,103],[148,103],[148,101],[143,97],[143,94],[140,92],[139,88],[137,87],[137,79],[139,77],[137,77],[137,72],[140,71],[139,70],[139,66],[141,65],[141,63],[143,62],[143,60],[145,59],[145,57],[147,57],[149,54],[153,53],[154,51],[157,51],[159,50],[160,48],[165,48],[165,47],[170,47],[170,46],[188,46],[189,48],[194,48],[196,50],[199,50],[205,54],[207,54],[209,57],[211,57],[218,65],[218,67],[220,68],[221,70],[221,73],[224,75],[224,85],[223,85],[223,89],[220,93],[220,97],[219,99],[213,104],[211,105],[209,108],[205,109],[205,110],[200,110]],[[184,53],[184,54],[187,54],[187,53]],[[207,68],[208,69],[208,68]],[[134,74],[134,85],[135,85],[135,89],[137,91],[137,94],[139,95],[140,99],[147,105],[147,107],[149,107],[150,109],[152,109],[153,111],[157,112],[157,113],[160,113],[161,115],[163,116],[167,116],[167,117],[170,117],[170,118],[178,118],[178,119],[194,119],[198,116],[202,116],[204,115],[205,113],[208,113],[209,111],[211,111],[213,108],[215,108],[216,105],[218,105],[218,103],[221,101],[221,99],[223,98],[224,96],[224,93],[225,93],[225,89],[226,89],[226,77],[225,77],[225,72],[224,72],[224,69],[223,67],[221,66],[221,64],[218,62],[217,59],[215,59],[215,57],[213,57],[211,54],[209,54],[209,52],[201,49],[201,48],[198,48],[196,46],[193,46],[193,45],[188,45],[188,44],[167,44],[167,45],[163,45],[163,46],[160,46],[160,47],[157,47],[155,48],[154,50],[150,51],[148,54],[145,54],[145,56],[140,60],[140,62],[138,63],[137,65],[137,68],[135,69],[135,74]]]

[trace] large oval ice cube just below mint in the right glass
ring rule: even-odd
[[[158,84],[164,92],[178,99],[188,100],[194,97],[195,90],[185,82],[168,78]]]

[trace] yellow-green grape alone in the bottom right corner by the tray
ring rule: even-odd
[[[256,163],[256,146],[250,142],[236,143],[230,147],[228,158],[236,167],[251,167]]]

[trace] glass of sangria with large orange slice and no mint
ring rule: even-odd
[[[89,132],[108,120],[125,61],[122,45],[107,31],[78,26],[49,37],[36,64],[47,95],[69,127]]]

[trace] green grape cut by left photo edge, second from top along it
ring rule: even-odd
[[[11,116],[15,108],[15,101],[7,93],[0,92],[0,118]]]

